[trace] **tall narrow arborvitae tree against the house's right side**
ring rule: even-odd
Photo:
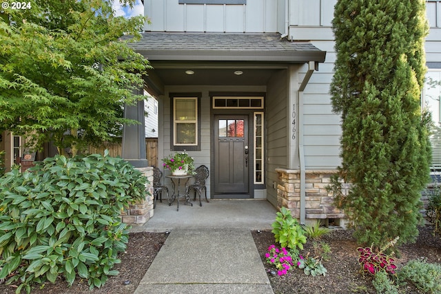
[[[429,119],[420,109],[424,0],[339,0],[332,23],[332,105],[342,117],[339,169],[351,183],[336,203],[360,243],[382,246],[396,236],[413,242],[431,160]]]

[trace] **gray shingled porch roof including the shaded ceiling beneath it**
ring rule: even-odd
[[[266,85],[277,70],[324,62],[326,55],[311,43],[274,33],[144,32],[130,46],[154,67],[147,85],[156,94],[162,94],[164,85]],[[234,74],[236,70],[243,74]]]

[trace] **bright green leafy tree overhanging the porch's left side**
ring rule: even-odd
[[[149,65],[121,36],[138,39],[144,18],[115,17],[112,2],[32,0],[0,10],[0,130],[37,148],[53,141],[75,150],[134,123],[123,107],[144,98],[133,90]]]

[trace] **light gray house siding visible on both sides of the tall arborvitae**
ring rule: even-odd
[[[334,169],[341,162],[340,116],[332,112],[329,95],[329,84],[336,59],[334,34],[331,30],[335,3],[335,0],[291,0],[291,8],[294,9],[295,5],[299,8],[298,19],[290,19],[291,39],[311,41],[317,48],[327,52],[325,63],[320,64],[318,72],[314,72],[311,76],[304,93],[304,143],[307,169]],[[308,15],[309,19],[305,18]],[[431,30],[425,43],[426,59],[427,62],[440,62],[441,3],[427,2],[427,15]],[[303,68],[305,72],[306,66]]]

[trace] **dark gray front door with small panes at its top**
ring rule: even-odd
[[[248,116],[214,118],[214,197],[249,198]]]

